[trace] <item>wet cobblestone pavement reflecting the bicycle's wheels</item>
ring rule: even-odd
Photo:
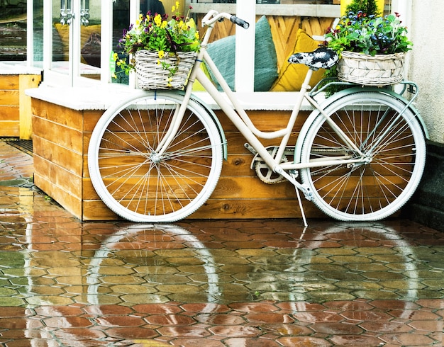
[[[443,346],[442,232],[82,223],[30,177],[0,142],[1,346]]]

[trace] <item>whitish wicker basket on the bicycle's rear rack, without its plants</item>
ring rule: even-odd
[[[402,81],[405,53],[364,55],[342,52],[338,62],[338,79],[363,86],[387,86]]]

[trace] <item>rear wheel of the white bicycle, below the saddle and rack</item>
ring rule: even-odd
[[[362,91],[338,99],[326,114],[352,140],[364,159],[301,170],[313,203],[343,221],[380,220],[392,215],[416,190],[426,161],[426,142],[416,116],[385,93]],[[303,142],[301,163],[359,159],[323,115]]]

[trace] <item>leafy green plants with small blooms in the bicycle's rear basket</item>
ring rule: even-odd
[[[399,13],[388,16],[367,16],[367,13],[349,12],[340,18],[338,26],[326,33],[326,46],[336,52],[360,52],[366,55],[390,55],[411,50],[401,25]]]

